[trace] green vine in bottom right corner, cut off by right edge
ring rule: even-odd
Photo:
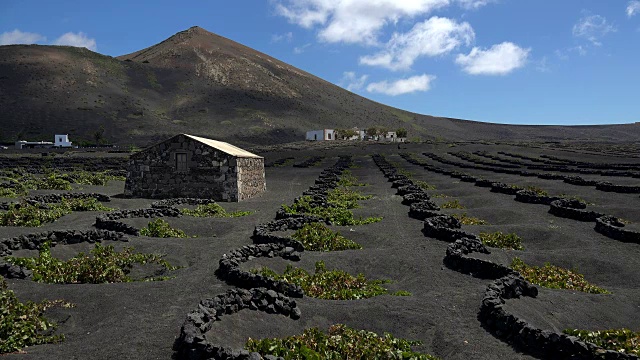
[[[629,329],[609,330],[578,330],[565,329],[563,332],[578,339],[590,342],[607,350],[614,350],[624,354],[640,355],[640,331]]]

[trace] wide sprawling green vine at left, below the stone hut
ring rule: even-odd
[[[97,243],[91,256],[79,253],[64,261],[51,256],[50,244],[44,243],[37,258],[8,256],[6,260],[33,271],[33,281],[54,284],[130,282],[133,279],[128,274],[134,264],[158,264],[166,270],[176,269],[160,255],[134,253],[133,250],[125,248],[117,252],[112,245]]]

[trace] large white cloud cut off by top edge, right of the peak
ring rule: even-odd
[[[381,29],[446,7],[450,0],[275,0],[276,13],[326,42],[377,44]]]

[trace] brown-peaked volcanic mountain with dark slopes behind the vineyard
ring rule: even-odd
[[[368,100],[200,27],[116,58],[68,46],[0,46],[1,141],[146,145],[176,133],[273,144],[318,128],[406,128],[450,140],[637,140],[640,125],[513,126]]]

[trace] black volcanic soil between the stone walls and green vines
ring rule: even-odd
[[[304,252],[296,263],[308,270],[314,262],[323,260],[329,268],[340,268],[353,274],[363,272],[368,278],[390,279],[389,288],[407,290],[409,297],[379,296],[357,301],[329,301],[305,297],[297,300],[302,317],[291,320],[280,315],[241,311],[216,322],[207,334],[221,345],[239,348],[247,337],[261,338],[299,334],[311,326],[327,328],[334,323],[367,329],[378,333],[390,332],[394,336],[420,340],[416,348],[443,359],[528,359],[527,354],[515,351],[507,343],[495,338],[477,319],[480,303],[489,280],[464,275],[446,268],[442,260],[447,243],[425,237],[422,222],[407,216],[408,207],[395,189],[383,177],[370,155],[384,153],[389,161],[405,168],[416,179],[437,187],[431,195],[452,197],[435,199],[442,203],[458,199],[465,210],[443,210],[445,213],[466,212],[487,220],[491,225],[465,226],[473,233],[481,231],[515,232],[523,238],[524,251],[492,249],[485,257],[509,264],[514,256],[527,263],[542,265],[551,262],[563,267],[576,267],[586,279],[610,290],[611,295],[591,295],[567,290],[540,288],[537,298],[514,299],[506,308],[516,316],[535,326],[553,331],[564,328],[604,329],[627,327],[640,330],[640,245],[625,244],[607,238],[593,230],[593,223],[563,219],[549,214],[548,206],[524,204],[513,196],[490,192],[473,183],[460,182],[450,176],[430,173],[422,167],[409,164],[398,156],[399,151],[420,154],[430,151],[453,158],[449,151],[484,150],[492,154],[510,151],[529,156],[542,153],[555,154],[567,159],[610,162],[611,157],[581,152],[515,147],[507,145],[467,144],[450,148],[446,145],[350,146],[345,148],[312,148],[309,150],[274,150],[263,153],[266,162],[293,156],[297,161],[306,156],[324,155],[318,166],[300,169],[291,165],[267,168],[267,192],[242,203],[222,204],[228,210],[253,210],[248,217],[235,219],[168,219],[192,239],[154,239],[132,237],[128,244],[143,252],[169,254],[175,264],[186,266],[175,272],[175,279],[153,283],[101,284],[101,285],[48,285],[26,280],[9,280],[10,288],[22,300],[65,299],[77,305],[73,309],[53,309],[48,314],[60,322],[58,333],[66,335],[61,344],[27,348],[26,355],[10,355],[10,359],[168,359],[171,346],[179,334],[186,314],[195,309],[200,300],[223,293],[230,286],[214,275],[222,254],[251,243],[253,227],[274,219],[281,204],[290,204],[314,183],[322,169],[332,165],[337,155],[351,154],[352,169],[369,186],[364,193],[374,198],[363,202],[356,214],[383,216],[380,223],[335,227],[341,233],[363,245],[363,250],[315,253]],[[432,164],[445,168],[453,166]],[[459,159],[457,159],[459,160]],[[462,161],[462,160],[459,160]],[[636,158],[616,157],[615,162],[634,162]],[[640,165],[639,165],[640,169]],[[595,187],[581,187],[558,180],[543,180],[479,171],[458,169],[486,176],[510,184],[536,185],[550,193],[566,193],[583,197],[595,203],[594,209],[631,221],[629,227],[640,223],[638,194],[616,194],[597,191]],[[623,178],[611,178],[619,183]],[[628,180],[628,179],[627,179]],[[640,184],[640,179],[635,179]],[[629,184],[634,184],[633,179]],[[121,193],[123,183],[116,182],[102,189],[91,189],[106,194]],[[113,199],[108,204],[118,208],[145,207],[151,200]],[[76,213],[37,229],[0,228],[0,237],[40,232],[48,229],[88,229],[95,214]],[[142,226],[147,219],[128,220]],[[86,245],[58,246],[54,254],[71,256],[86,251]],[[20,251],[17,255],[33,254]],[[281,269],[281,259],[259,259],[243,264],[245,268],[269,265]]]

